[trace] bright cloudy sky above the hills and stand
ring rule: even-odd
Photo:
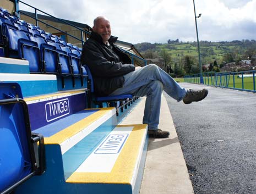
[[[93,26],[106,16],[129,43],[197,41],[193,0],[23,0],[57,18]],[[199,41],[256,40],[256,0],[194,0]],[[21,10],[32,12],[26,5]],[[39,13],[40,14],[40,13]]]

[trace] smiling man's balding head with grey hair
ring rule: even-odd
[[[108,21],[104,16],[97,16],[97,18],[94,19],[94,26],[92,27],[92,30],[102,37],[103,43],[106,44],[108,39],[110,39],[110,21]]]

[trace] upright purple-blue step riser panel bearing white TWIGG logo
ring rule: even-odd
[[[28,104],[31,130],[63,119],[86,107],[85,93]]]

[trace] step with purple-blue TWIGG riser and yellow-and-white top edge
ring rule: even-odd
[[[28,97],[24,100],[28,104],[32,131],[87,107],[85,89]]]

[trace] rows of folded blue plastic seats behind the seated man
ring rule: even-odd
[[[31,73],[86,75],[80,63],[81,50],[78,47],[35,26],[21,25],[7,18],[15,16],[1,14],[2,43],[6,46],[6,57],[29,60]]]

